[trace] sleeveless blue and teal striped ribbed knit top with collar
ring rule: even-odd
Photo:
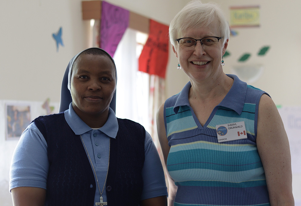
[[[256,147],[258,104],[266,93],[228,76],[233,86],[203,127],[189,105],[190,82],[165,102],[167,169],[178,186],[175,206],[270,205]],[[218,143],[216,125],[240,121],[247,139]]]

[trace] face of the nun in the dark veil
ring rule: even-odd
[[[106,55],[81,54],[72,68],[71,97],[74,111],[84,119],[107,118],[116,89],[115,67]]]

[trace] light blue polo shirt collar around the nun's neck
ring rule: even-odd
[[[82,135],[88,131],[93,130],[81,118],[75,113],[72,103],[69,105],[69,109],[65,112],[65,119],[76,135]],[[101,128],[98,128],[99,131],[103,132],[109,137],[116,138],[118,132],[118,121],[113,109],[109,108],[109,116],[107,122]]]

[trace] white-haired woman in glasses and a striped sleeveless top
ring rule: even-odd
[[[290,148],[264,91],[226,75],[229,26],[214,3],[188,3],[169,26],[189,78],[157,112],[169,205],[294,205]]]

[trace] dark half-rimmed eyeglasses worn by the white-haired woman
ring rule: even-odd
[[[197,45],[197,41],[200,41],[203,48],[206,48],[206,47],[216,45],[216,43],[219,42],[221,38],[222,37],[217,37],[217,36],[207,36],[201,39],[185,37],[185,38],[178,38],[175,41],[179,42],[181,49],[188,51],[194,49],[195,45]]]

